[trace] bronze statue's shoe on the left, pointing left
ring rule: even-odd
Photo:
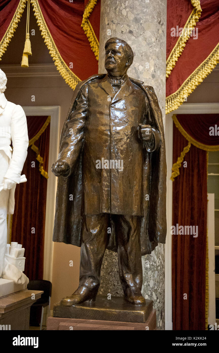
[[[60,304],[70,306],[83,303],[84,301],[95,301],[98,288],[99,286],[95,286],[93,288],[79,286],[72,295],[63,298]]]

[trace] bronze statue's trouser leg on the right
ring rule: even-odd
[[[114,215],[119,278],[126,295],[141,295],[143,273],[138,216]]]

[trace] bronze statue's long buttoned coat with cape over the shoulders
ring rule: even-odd
[[[138,124],[150,124],[151,144]],[[123,171],[96,168],[98,160],[123,161]],[[165,243],[165,144],[161,110],[152,87],[126,78],[115,93],[107,75],[77,85],[63,125],[58,160],[70,167],[58,178],[54,241],[81,245],[84,214],[142,216],[142,254]],[[115,233],[108,249],[116,251]]]

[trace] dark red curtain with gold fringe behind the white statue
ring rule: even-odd
[[[27,128],[29,148],[22,171],[27,182],[15,189],[11,241],[25,248],[24,273],[33,280],[43,279],[50,117],[27,116]]]

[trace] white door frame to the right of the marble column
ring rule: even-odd
[[[173,182],[170,180],[173,166],[173,114],[218,114],[219,103],[184,103],[166,115],[165,142],[167,150],[167,240],[165,244],[165,330],[173,330],[172,322],[172,225]]]

